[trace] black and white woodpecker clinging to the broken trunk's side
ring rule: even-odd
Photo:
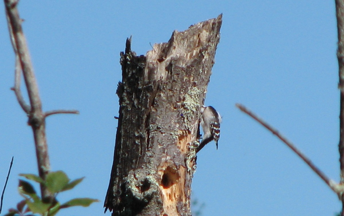
[[[216,149],[218,148],[218,140],[220,139],[220,124],[222,122],[220,113],[212,106],[201,107],[201,125],[203,129],[203,139],[197,147],[196,153],[199,152],[206,144],[214,140]]]

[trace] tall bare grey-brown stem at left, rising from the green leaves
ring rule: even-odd
[[[4,3],[6,7],[10,38],[12,41],[16,59],[19,59],[20,61],[26,89],[28,91],[30,99],[31,108],[30,111],[26,113],[28,113],[28,123],[32,127],[35,140],[39,176],[42,179],[45,179],[47,173],[49,173],[50,171],[50,160],[45,136],[45,116],[42,111],[41,99],[39,96],[38,86],[30,59],[29,49],[26,44],[24,33],[22,31],[22,20],[20,19],[17,9],[18,0],[4,0]],[[17,63],[18,62],[16,62],[16,81],[14,90],[16,92],[17,98],[19,98],[20,105],[25,111],[27,111],[28,107],[24,105],[25,103],[23,102],[22,96],[18,95],[20,91],[17,82],[17,76],[19,76],[19,65]],[[40,186],[42,198],[51,196],[51,193],[46,189],[44,184],[41,184]]]

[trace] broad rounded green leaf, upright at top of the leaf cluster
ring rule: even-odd
[[[68,176],[63,171],[50,172],[46,176],[46,187],[51,193],[62,191],[69,182]]]

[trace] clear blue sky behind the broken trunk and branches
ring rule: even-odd
[[[19,173],[37,173],[31,128],[10,91],[14,53],[0,4],[0,185],[14,164],[3,213],[21,199]],[[92,197],[61,215],[104,215],[118,114],[119,52],[132,35],[144,55],[173,30],[223,13],[206,105],[222,115],[221,139],[197,158],[193,199],[203,215],[334,215],[337,196],[301,159],[241,113],[242,103],[339,180],[339,91],[334,1],[20,1],[24,33],[48,117],[52,170],[85,176],[61,202]],[[2,180],[1,180],[2,179]],[[2,188],[2,186],[1,186]],[[106,215],[110,215],[107,213]]]

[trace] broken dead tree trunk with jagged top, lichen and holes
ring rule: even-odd
[[[168,43],[121,52],[119,119],[104,207],[112,215],[191,215],[191,182],[222,15]],[[106,211],[105,209],[105,211]]]

